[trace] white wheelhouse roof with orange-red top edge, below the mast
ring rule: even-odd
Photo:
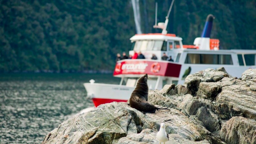
[[[130,38],[131,41],[138,40],[174,40],[182,41],[181,37],[177,37],[175,34],[135,34]]]

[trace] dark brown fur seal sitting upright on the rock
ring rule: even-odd
[[[144,113],[154,113],[156,110],[169,110],[167,108],[157,108],[153,104],[148,103],[148,74],[145,74],[138,80],[129,103],[132,108]]]

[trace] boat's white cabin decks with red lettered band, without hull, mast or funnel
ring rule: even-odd
[[[165,84],[183,84],[192,73],[225,67],[232,76],[241,77],[242,71],[256,68],[256,50],[219,50],[219,40],[196,38],[195,45],[183,45],[175,34],[136,34],[131,39],[133,52],[141,52],[146,59],[118,61],[115,77],[121,77],[120,85],[135,87],[138,79],[148,73],[150,89],[161,89]],[[174,62],[161,60],[163,53],[172,56]],[[155,54],[157,60],[152,60]],[[241,71],[241,72],[240,72]]]

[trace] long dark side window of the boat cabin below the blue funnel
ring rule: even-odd
[[[188,54],[185,64],[233,64],[231,55]]]

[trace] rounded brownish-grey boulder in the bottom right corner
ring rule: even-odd
[[[222,126],[220,137],[229,144],[255,144],[256,121],[244,117],[232,117]]]

